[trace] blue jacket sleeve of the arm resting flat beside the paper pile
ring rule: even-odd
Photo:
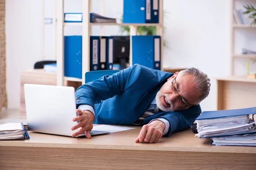
[[[170,126],[168,132],[164,136],[170,136],[172,133],[186,130],[193,125],[195,119],[201,114],[200,105],[193,106],[187,110],[167,112],[162,116],[154,119],[163,118],[169,121]]]

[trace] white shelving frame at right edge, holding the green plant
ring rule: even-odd
[[[256,54],[235,54],[234,53],[234,45],[235,45],[235,32],[236,29],[253,29],[256,31],[256,25],[250,25],[250,24],[234,24],[233,23],[233,11],[236,8],[236,1],[238,0],[231,0],[231,57],[230,57],[230,62],[231,62],[231,76],[236,76],[234,74],[234,63],[236,59],[256,59]],[[240,0],[243,2],[242,0]],[[255,0],[256,2],[256,0]],[[244,4],[246,5],[246,4]]]

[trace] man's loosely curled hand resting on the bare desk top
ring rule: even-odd
[[[144,125],[140,130],[140,135],[135,142],[149,142],[157,143],[157,141],[162,137],[165,124],[160,120],[154,120],[150,124]]]

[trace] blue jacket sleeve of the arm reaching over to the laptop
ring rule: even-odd
[[[141,66],[133,65],[121,70],[111,76],[103,76],[100,79],[81,85],[76,90],[76,108],[79,105],[90,105],[94,109],[94,104],[100,103],[102,100],[109,99],[117,94],[122,94],[125,89],[131,86],[126,85],[131,79],[137,79],[140,75]],[[133,76],[131,76],[133,75]]]

